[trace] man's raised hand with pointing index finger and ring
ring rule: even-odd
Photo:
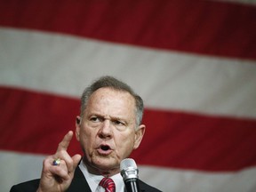
[[[52,156],[44,159],[43,171],[37,192],[60,192],[65,191],[70,186],[74,177],[76,166],[81,156],[69,156],[67,149],[73,132],[69,131],[61,140],[57,151]],[[60,158],[60,164],[52,164],[54,160]]]

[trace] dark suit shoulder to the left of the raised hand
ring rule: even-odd
[[[36,189],[39,186],[40,180],[28,180],[20,184],[12,186],[10,192],[36,192]]]

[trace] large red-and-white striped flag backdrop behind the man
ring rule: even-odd
[[[0,0],[0,191],[40,177],[103,75],[145,101],[141,180],[256,191],[256,2],[242,0]]]

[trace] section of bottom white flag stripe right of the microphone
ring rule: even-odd
[[[163,191],[256,191],[256,167],[240,172],[196,172],[140,165],[139,170],[141,180]]]

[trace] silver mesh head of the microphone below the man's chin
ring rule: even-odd
[[[124,181],[139,178],[137,164],[132,158],[126,158],[122,160],[120,164],[120,170]]]

